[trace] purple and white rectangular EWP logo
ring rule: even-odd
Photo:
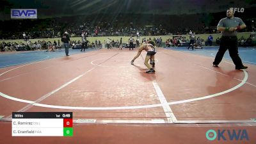
[[[37,19],[36,9],[12,9],[12,19]]]

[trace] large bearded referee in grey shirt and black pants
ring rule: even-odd
[[[246,25],[244,24],[243,20],[239,17],[234,17],[234,8],[229,8],[227,10],[227,17],[221,19],[217,26],[217,30],[221,31],[222,36],[219,51],[217,52],[215,60],[212,63],[213,67],[218,67],[228,49],[229,55],[236,65],[237,70],[248,68],[243,65],[237,48],[237,30],[244,28],[246,28]]]

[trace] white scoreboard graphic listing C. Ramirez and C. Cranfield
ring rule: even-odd
[[[73,113],[13,112],[12,136],[73,136]]]

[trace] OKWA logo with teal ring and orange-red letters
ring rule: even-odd
[[[238,129],[238,130],[220,130],[214,131],[213,129],[210,129],[205,134],[207,140],[213,141],[213,140],[223,140],[223,141],[243,141],[243,140],[249,140],[247,131],[245,129]]]

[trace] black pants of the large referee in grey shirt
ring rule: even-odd
[[[214,65],[220,64],[220,61],[222,60],[227,49],[228,49],[230,57],[232,58],[232,61],[236,65],[236,67],[242,67],[243,63],[238,54],[237,37],[236,36],[222,36],[221,37],[220,48],[216,54],[213,64]]]

